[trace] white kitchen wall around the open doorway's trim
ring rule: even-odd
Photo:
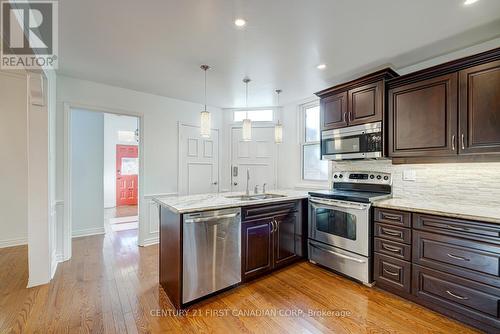
[[[178,122],[199,125],[203,106],[67,76],[58,76],[57,100],[57,198],[60,200],[64,198],[64,103],[141,115],[144,184],[139,187],[144,196],[140,198],[139,242],[157,242],[158,218],[150,197],[177,192]],[[222,111],[213,107],[209,111],[212,127],[220,128]],[[224,156],[220,159],[223,161]]]

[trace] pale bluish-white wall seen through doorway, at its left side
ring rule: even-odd
[[[104,114],[71,109],[73,236],[104,233]]]

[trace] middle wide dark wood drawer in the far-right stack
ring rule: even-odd
[[[413,262],[500,286],[500,246],[413,232]]]

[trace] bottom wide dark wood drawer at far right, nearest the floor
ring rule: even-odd
[[[414,264],[412,292],[430,308],[437,305],[490,326],[500,326],[498,288]]]

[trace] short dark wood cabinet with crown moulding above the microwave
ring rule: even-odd
[[[386,68],[317,92],[321,130],[382,121],[385,81],[397,76],[392,69]]]

